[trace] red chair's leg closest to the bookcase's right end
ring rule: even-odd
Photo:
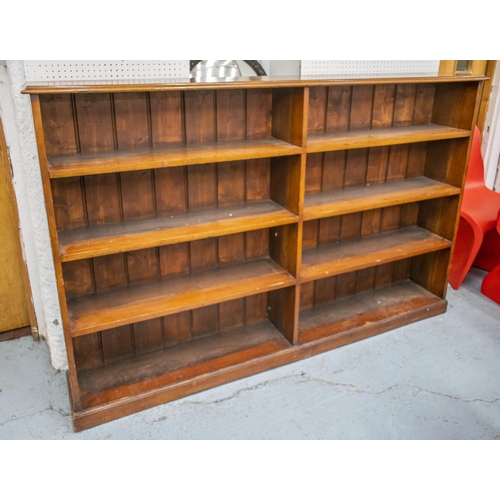
[[[450,285],[455,290],[460,288],[481,248],[482,242],[481,229],[460,217],[449,278]]]

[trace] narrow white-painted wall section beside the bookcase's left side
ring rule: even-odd
[[[12,163],[21,240],[39,334],[49,344],[55,368],[67,367],[61,314],[50,247],[30,98],[22,61],[0,67],[0,113]]]

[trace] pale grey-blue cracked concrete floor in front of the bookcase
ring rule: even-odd
[[[74,433],[47,345],[0,343],[0,439],[500,439],[500,306],[473,269],[448,312]]]

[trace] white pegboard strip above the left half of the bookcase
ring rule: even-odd
[[[189,61],[24,61],[27,82],[189,78]]]

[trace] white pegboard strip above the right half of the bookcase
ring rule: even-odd
[[[439,61],[302,61],[302,76],[437,76]]]

